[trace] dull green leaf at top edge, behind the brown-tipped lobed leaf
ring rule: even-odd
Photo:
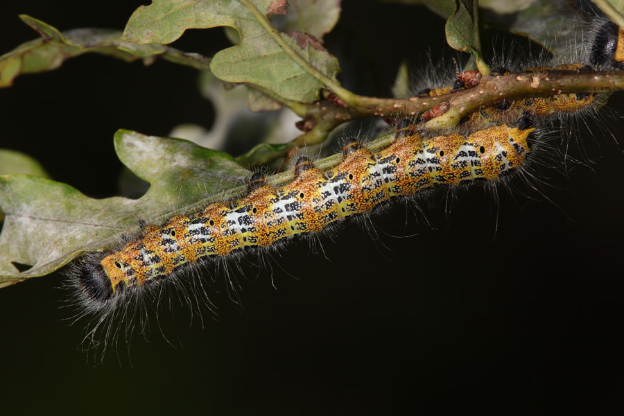
[[[340,18],[341,0],[288,0],[286,15],[275,16],[271,23],[281,32],[305,32],[323,42],[323,36]]]

